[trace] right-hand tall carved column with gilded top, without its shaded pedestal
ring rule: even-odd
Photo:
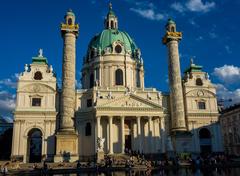
[[[178,52],[178,43],[182,33],[176,32],[176,23],[169,19],[163,44],[168,48],[168,77],[170,87],[172,132],[186,131],[182,79]]]

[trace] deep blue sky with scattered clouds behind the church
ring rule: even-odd
[[[61,78],[62,39],[59,25],[71,8],[80,25],[77,79],[90,39],[103,29],[106,0],[3,0],[0,5],[0,114],[11,117],[18,73],[39,48]],[[193,57],[216,84],[218,96],[240,101],[240,1],[238,0],[112,0],[119,29],[141,49],[146,87],[168,91],[166,47],[161,39],[169,17],[183,32],[182,72]]]

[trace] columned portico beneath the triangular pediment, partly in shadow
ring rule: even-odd
[[[105,139],[104,152],[108,154],[125,153],[126,150],[158,153],[162,151],[162,119],[159,115],[98,115],[95,126],[97,138]]]

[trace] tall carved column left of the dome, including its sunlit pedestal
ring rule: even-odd
[[[78,24],[75,24],[75,14],[72,10],[68,10],[65,15],[65,22],[61,24],[63,38],[62,94],[60,125],[56,134],[55,161],[62,161],[64,154],[69,156],[70,161],[78,159],[78,136],[74,127],[76,39],[78,30]]]

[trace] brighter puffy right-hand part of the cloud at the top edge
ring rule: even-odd
[[[202,0],[189,0],[186,3],[186,7],[188,10],[193,12],[208,12],[212,8],[215,7],[215,2],[205,2],[203,3]]]

